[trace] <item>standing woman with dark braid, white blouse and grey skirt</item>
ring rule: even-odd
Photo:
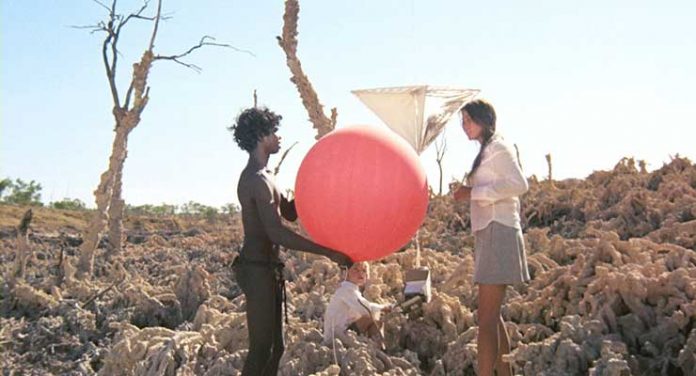
[[[519,195],[529,186],[513,148],[495,132],[493,106],[469,102],[461,111],[462,128],[481,144],[468,175],[468,185],[454,192],[455,200],[469,200],[474,233],[474,282],[478,284],[478,374],[511,375],[502,361],[510,339],[500,309],[505,288],[529,281],[520,226]]]

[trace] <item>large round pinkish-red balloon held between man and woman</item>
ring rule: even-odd
[[[295,181],[297,212],[309,235],[353,261],[376,260],[412,238],[428,206],[418,155],[395,133],[352,126],[324,136]]]

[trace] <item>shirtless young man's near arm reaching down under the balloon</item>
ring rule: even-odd
[[[256,203],[264,231],[266,231],[273,243],[289,249],[326,256],[341,265],[351,263],[350,258],[343,253],[314,243],[287,228],[281,221],[274,206],[272,192],[271,186],[267,181],[261,177],[254,177],[252,182],[252,199]]]

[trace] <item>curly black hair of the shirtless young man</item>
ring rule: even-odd
[[[283,117],[266,107],[252,107],[242,111],[228,129],[240,148],[252,152],[263,137],[276,132]]]

